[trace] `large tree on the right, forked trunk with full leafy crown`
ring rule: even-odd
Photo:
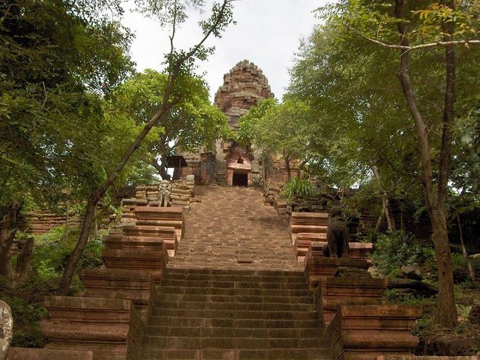
[[[446,197],[451,152],[459,143],[453,115],[460,118],[477,104],[468,93],[479,82],[472,46],[479,44],[479,3],[345,0],[321,14],[326,25],[313,42],[328,48],[315,48],[311,56],[311,46],[305,47],[291,88],[323,109],[326,121],[346,129],[341,139],[355,144],[350,149],[357,149],[359,165],[381,169],[383,190],[388,180],[394,188],[401,181],[405,192],[421,189],[439,269],[438,322],[452,326]]]

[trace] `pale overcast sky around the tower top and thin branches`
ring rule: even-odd
[[[206,9],[211,8],[212,2],[206,0]],[[287,69],[300,39],[308,37],[318,23],[312,11],[325,3],[325,0],[235,1],[237,24],[230,25],[222,38],[210,39],[207,45],[215,45],[215,53],[206,62],[199,62],[198,72],[205,73],[211,99],[223,84],[224,73],[243,59],[263,70],[275,96],[281,99],[289,84]],[[191,14],[176,35],[177,48],[187,49],[197,43],[202,36],[197,23],[207,15],[208,12]],[[168,32],[156,21],[135,12],[125,12],[123,24],[136,36],[131,51],[137,70],[162,69],[163,53],[169,51]]]

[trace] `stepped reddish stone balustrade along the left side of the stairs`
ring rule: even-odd
[[[148,214],[149,209],[145,208],[139,211],[141,219],[154,219],[159,213]],[[178,211],[173,213],[178,217]],[[41,326],[48,340],[46,349],[87,350],[93,352],[95,360],[139,358],[145,320],[156,294],[155,283],[165,275],[169,259],[163,237],[167,234],[176,242],[176,229],[173,226],[167,230],[158,226],[125,228],[125,235],[104,237],[105,267],[80,272],[84,283],[82,296],[45,298],[49,317]],[[37,354],[38,359],[43,359],[40,356],[46,353]],[[48,352],[46,359],[67,359],[59,353],[52,354]],[[89,355],[72,354],[69,359],[91,360]],[[25,352],[21,359],[32,360],[37,355]]]

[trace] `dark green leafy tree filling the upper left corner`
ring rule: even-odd
[[[84,196],[101,170],[100,96],[132,71],[130,34],[67,1],[0,3],[0,274],[25,200]],[[110,7],[98,1],[97,12]],[[26,247],[27,249],[29,247]]]

